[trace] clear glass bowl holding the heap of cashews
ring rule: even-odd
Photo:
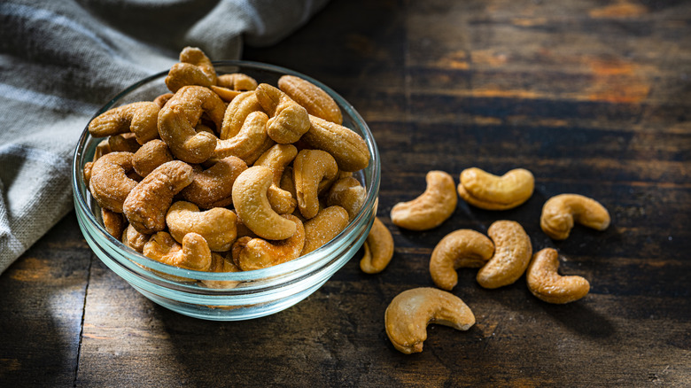
[[[102,140],[84,128],[74,151],[72,186],[74,208],[82,234],[97,257],[146,298],[180,314],[215,321],[237,321],[274,314],[307,298],[329,280],[358,252],[377,214],[379,154],[369,128],[352,105],[336,92],[307,75],[279,66],[248,61],[214,62],[218,74],[245,73],[259,82],[276,85],[283,74],[297,75],[324,89],[343,113],[343,125],[360,134],[370,152],[369,167],[355,173],[367,189],[360,213],[338,237],[299,259],[271,268],[245,272],[200,272],[176,268],[151,260],[110,236],[102,225],[100,208],[83,179],[84,164],[93,158]],[[168,90],[166,72],[151,75],[125,89],[95,115],[115,106],[151,101]],[[221,284],[225,288],[213,288]],[[221,283],[218,283],[221,282]]]

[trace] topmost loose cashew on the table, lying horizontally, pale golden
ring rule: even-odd
[[[458,194],[472,206],[485,210],[507,210],[523,204],[532,196],[535,178],[524,168],[497,176],[477,167],[461,173]]]

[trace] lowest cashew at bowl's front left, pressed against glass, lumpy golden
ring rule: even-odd
[[[164,264],[195,271],[211,268],[211,250],[204,237],[189,233],[182,245],[167,232],[158,232],[144,244],[144,256]]]

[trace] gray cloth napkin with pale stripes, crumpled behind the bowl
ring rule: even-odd
[[[91,116],[184,46],[240,58],[328,0],[0,3],[0,273],[72,209],[70,165]]]

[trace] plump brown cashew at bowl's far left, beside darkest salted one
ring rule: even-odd
[[[127,175],[132,169],[131,152],[107,153],[91,167],[89,190],[101,207],[122,213],[122,204],[137,182]]]

